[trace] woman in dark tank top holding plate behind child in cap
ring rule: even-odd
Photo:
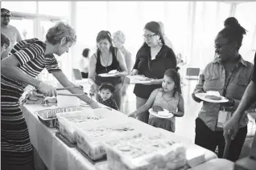
[[[121,106],[122,76],[128,75],[126,60],[122,51],[113,46],[111,34],[107,30],[101,30],[97,34],[97,52],[93,54],[89,61],[89,83],[91,91],[95,94],[101,83],[111,83],[114,85],[113,98],[118,107]],[[109,74],[109,71],[114,74]],[[99,99],[99,95],[96,95]]]

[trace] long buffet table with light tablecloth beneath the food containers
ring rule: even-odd
[[[106,161],[101,161],[94,164],[91,160],[83,156],[81,152],[76,150],[76,148],[69,148],[67,144],[64,144],[64,142],[56,136],[56,132],[58,132],[56,128],[48,128],[39,121],[37,115],[35,115],[35,111],[48,109],[48,107],[35,104],[25,104],[22,108],[23,114],[25,115],[25,119],[27,121],[27,127],[31,137],[31,144],[33,144],[49,170],[94,170],[96,167],[97,169],[105,169],[107,165]],[[85,107],[85,109],[91,108]],[[142,125],[145,126],[145,124]],[[163,134],[166,134],[166,136],[171,140],[181,141],[186,144],[188,147],[187,160],[192,167],[194,167],[193,170],[197,169],[197,165],[217,158],[215,153],[204,148],[200,148],[195,144],[189,143],[188,140],[177,136],[174,133],[167,132],[162,129],[160,131],[163,132]],[[197,155],[195,155],[195,153]],[[198,158],[195,159],[195,156]],[[221,170],[221,168],[218,170]]]

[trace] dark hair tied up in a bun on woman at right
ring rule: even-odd
[[[239,50],[242,46],[243,35],[246,34],[247,30],[234,17],[226,18],[224,26],[225,28],[219,34],[223,35],[224,38],[228,38],[229,42],[237,42],[237,50]]]

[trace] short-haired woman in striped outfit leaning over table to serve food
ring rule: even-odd
[[[19,98],[28,84],[45,96],[57,95],[56,89],[35,79],[43,68],[55,76],[63,87],[74,87],[60,70],[55,55],[63,55],[76,42],[75,30],[58,22],[47,31],[46,41],[37,38],[18,42],[11,55],[1,63],[1,160],[6,169],[35,169],[27,123],[19,107]],[[81,94],[80,88],[71,88]],[[80,99],[92,108],[98,105],[87,95]]]

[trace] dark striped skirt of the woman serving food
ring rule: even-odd
[[[1,167],[34,170],[27,123],[19,107],[21,91],[1,84]]]

